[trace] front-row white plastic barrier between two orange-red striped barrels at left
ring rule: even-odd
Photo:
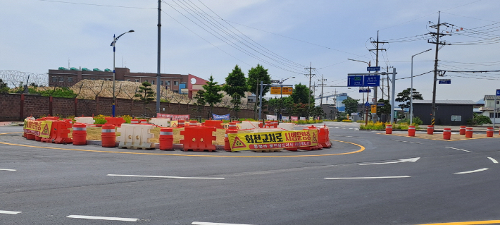
[[[122,127],[116,130],[116,132],[120,132],[120,136],[116,137],[116,140],[120,142],[118,147],[132,150],[154,148],[154,143],[149,141],[149,138],[154,138],[154,134],[151,133],[153,128],[153,125],[123,123]]]

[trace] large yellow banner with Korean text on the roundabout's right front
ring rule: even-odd
[[[232,152],[318,145],[318,130],[227,134]]]

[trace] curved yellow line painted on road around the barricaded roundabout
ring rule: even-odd
[[[22,132],[15,132],[22,133]],[[8,133],[0,133],[0,135],[4,135]],[[117,152],[117,151],[103,151],[103,150],[77,150],[71,148],[61,148],[61,147],[43,147],[43,146],[35,146],[35,145],[20,145],[13,144],[8,142],[0,142],[2,145],[14,145],[20,147],[37,147],[43,149],[51,149],[51,150],[70,150],[70,151],[80,151],[80,152],[105,152],[105,153],[119,153],[119,154],[147,154],[147,155],[170,155],[170,156],[180,156],[180,157],[235,157],[235,158],[270,158],[270,157],[324,157],[324,156],[332,156],[332,155],[341,155],[341,154],[354,154],[358,152],[363,152],[365,147],[363,145],[358,145],[352,142],[345,142],[342,140],[332,140],[336,142],[344,142],[351,145],[356,145],[360,147],[360,150],[354,152],[343,152],[343,153],[335,153],[335,154],[306,154],[306,155],[256,155],[256,156],[238,156],[238,155],[202,155],[202,154],[167,154],[167,153],[147,153],[147,152]]]

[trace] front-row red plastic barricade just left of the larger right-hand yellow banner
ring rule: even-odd
[[[203,152],[204,150],[208,152],[215,151],[216,147],[212,144],[212,141],[215,140],[215,136],[213,135],[215,130],[217,129],[213,127],[185,127],[184,130],[180,131],[180,134],[184,135],[184,139],[180,140],[183,150],[192,150],[194,152]]]

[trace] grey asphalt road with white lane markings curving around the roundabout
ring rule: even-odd
[[[311,152],[57,145],[0,127],[8,133],[0,135],[0,224],[500,224],[500,139],[444,142],[326,124],[332,148]]]

